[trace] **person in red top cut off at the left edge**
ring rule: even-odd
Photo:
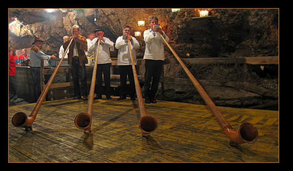
[[[9,98],[17,99],[17,91],[15,87],[15,61],[14,56],[11,54],[11,49],[8,47],[8,79],[9,79]]]

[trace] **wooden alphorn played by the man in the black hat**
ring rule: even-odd
[[[97,56],[95,60],[94,70],[92,72],[92,82],[91,82],[91,88],[89,90],[89,98],[88,98],[88,104],[86,107],[86,113],[79,113],[78,115],[76,115],[74,119],[75,126],[79,129],[83,129],[83,133],[85,133],[86,131],[92,132],[91,130],[92,107],[94,102],[95,80],[96,80],[96,74],[97,74],[99,48],[100,48],[100,40],[99,40],[98,48],[97,48]]]

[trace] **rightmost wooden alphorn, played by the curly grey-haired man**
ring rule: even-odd
[[[223,129],[226,136],[230,139],[230,145],[232,146],[232,145],[237,145],[242,143],[254,143],[258,138],[257,128],[249,122],[243,122],[239,126],[238,130],[233,129],[232,126],[229,125],[229,123],[226,121],[222,113],[220,113],[220,111],[218,110],[216,105],[213,103],[213,101],[210,99],[210,97],[207,95],[207,93],[204,91],[204,89],[201,87],[201,85],[198,83],[198,81],[195,79],[195,77],[192,75],[192,73],[187,69],[187,67],[179,58],[179,56],[176,54],[176,52],[171,48],[170,44],[168,44],[168,42],[165,40],[165,38],[161,34],[160,36],[165,41],[165,43],[167,44],[167,46],[169,47],[169,49],[171,50],[175,58],[178,60],[180,65],[183,67],[188,77],[191,79],[196,90],[199,92],[204,102],[210,108],[211,112],[213,113],[214,117],[216,118],[220,127]]]

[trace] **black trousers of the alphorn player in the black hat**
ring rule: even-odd
[[[102,94],[103,94],[102,75],[104,75],[104,81],[105,81],[105,95],[106,97],[111,96],[110,69],[111,69],[111,63],[97,64],[97,73],[96,73],[97,88],[95,89],[96,97],[102,97]]]

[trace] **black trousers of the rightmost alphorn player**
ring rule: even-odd
[[[145,98],[154,98],[159,86],[163,60],[145,59]]]

